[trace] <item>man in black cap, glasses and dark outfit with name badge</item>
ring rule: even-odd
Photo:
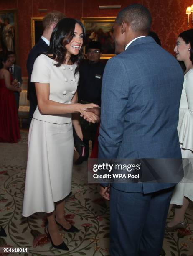
[[[91,41],[87,48],[88,60],[80,66],[79,86],[77,87],[78,100],[81,104],[95,103],[101,105],[101,86],[102,75],[105,64],[100,61],[101,43],[98,41]],[[86,156],[80,156],[76,159],[75,164],[81,164],[89,157],[89,140],[92,141],[92,148],[94,146],[94,139],[97,133],[97,123],[89,123],[84,118],[80,119],[81,128],[83,132],[83,141],[86,146]]]

